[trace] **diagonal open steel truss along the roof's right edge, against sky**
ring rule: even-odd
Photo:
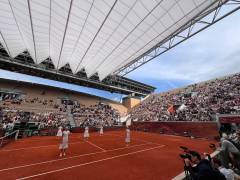
[[[128,73],[167,52],[178,44],[186,41],[195,34],[201,32],[202,30],[208,28],[209,26],[215,24],[239,9],[240,0],[229,0],[227,2],[219,0],[217,6],[206,9],[206,11],[200,13],[190,22],[179,28],[164,41],[151,48],[149,51],[138,57],[135,61],[115,71],[113,74],[118,74],[120,76],[127,75]]]

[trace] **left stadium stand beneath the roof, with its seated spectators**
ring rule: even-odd
[[[112,126],[127,113],[121,103],[49,86],[1,80],[1,129],[11,130],[20,114],[29,112],[29,122],[39,129],[59,125]]]

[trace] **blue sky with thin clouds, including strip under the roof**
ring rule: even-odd
[[[160,55],[128,78],[156,87],[156,93],[240,72],[240,11]],[[122,95],[0,70],[0,78],[51,85],[115,101]]]

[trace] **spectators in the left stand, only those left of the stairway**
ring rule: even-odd
[[[9,106],[10,104],[14,106]],[[69,124],[66,113],[63,113],[65,112],[63,108],[56,106],[56,103],[52,99],[24,97],[14,93],[2,93],[0,105],[0,128],[4,130],[11,130],[16,122],[21,121],[21,118],[23,118],[21,106],[24,105],[27,105],[27,109],[31,112],[30,117],[25,119],[28,119],[30,122],[39,123],[39,128],[58,127],[59,125]],[[19,106],[19,108],[15,109],[15,106]],[[35,107],[39,108],[39,112],[36,113],[36,111],[33,111]],[[42,107],[53,107],[56,111],[46,112],[42,110]],[[24,109],[24,111],[27,110]]]

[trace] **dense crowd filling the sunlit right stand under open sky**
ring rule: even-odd
[[[131,111],[137,121],[211,121],[216,114],[240,114],[240,74],[152,94]]]

